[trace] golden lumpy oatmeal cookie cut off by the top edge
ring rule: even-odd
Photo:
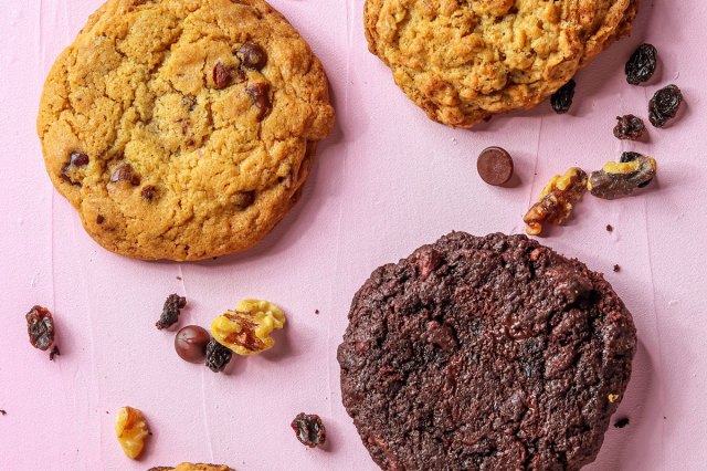
[[[370,51],[430,118],[456,127],[555,93],[627,35],[639,0],[367,0]]]

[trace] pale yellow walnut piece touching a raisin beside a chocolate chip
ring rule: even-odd
[[[271,336],[283,328],[283,311],[268,301],[243,300],[234,311],[226,311],[211,323],[211,335],[238,355],[257,355],[275,345]]]

